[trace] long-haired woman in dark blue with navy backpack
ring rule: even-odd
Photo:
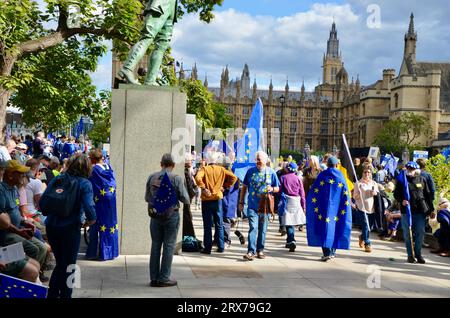
[[[42,194],[39,206],[47,216],[47,237],[55,254],[56,267],[50,278],[48,298],[71,298],[67,283],[77,262],[81,227],[96,221],[94,192],[88,178],[91,163],[86,155],[69,159],[67,171],[53,178]],[[83,224],[83,212],[86,220]],[[70,281],[70,279],[69,279]]]

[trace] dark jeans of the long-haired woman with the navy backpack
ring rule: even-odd
[[[46,229],[48,242],[52,247],[56,260],[56,266],[49,282],[47,297],[71,298],[72,288],[68,286],[67,278],[69,278],[69,275],[73,275],[73,271],[67,272],[67,270],[69,265],[75,265],[77,262],[81,239],[80,224],[61,227],[47,226]]]

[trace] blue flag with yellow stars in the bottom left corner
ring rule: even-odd
[[[46,298],[47,287],[0,274],[1,298]]]

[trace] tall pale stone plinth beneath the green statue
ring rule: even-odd
[[[151,173],[161,170],[164,153],[174,148],[183,152],[184,145],[172,140],[172,132],[185,125],[186,95],[178,88],[121,85],[112,92],[110,157],[117,181],[121,254],[150,252],[145,184]],[[174,172],[184,178],[184,156],[178,160]],[[182,216],[181,204],[177,253],[181,251]]]

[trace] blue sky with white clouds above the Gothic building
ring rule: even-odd
[[[379,9],[379,28],[369,21]],[[368,12],[369,11],[369,12]],[[399,71],[409,16],[415,14],[419,61],[450,62],[450,6],[446,0],[225,0],[206,24],[188,15],[175,25],[172,52],[185,69],[197,63],[199,77],[218,86],[222,69],[240,77],[248,63],[252,81],[267,88],[270,79],[284,88],[307,90],[322,80],[322,57],[336,22],[340,50],[350,78],[362,85],[381,78],[382,70]],[[377,20],[378,21],[378,20]],[[111,83],[111,55],[93,74],[99,89]]]

